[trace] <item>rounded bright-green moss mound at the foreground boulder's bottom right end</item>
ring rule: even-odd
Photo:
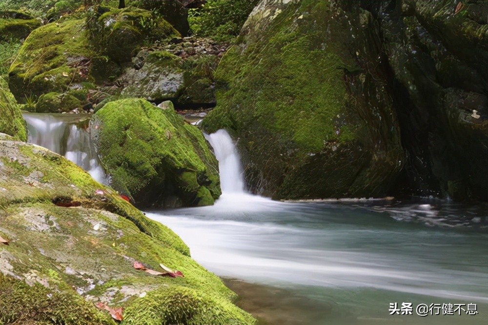
[[[155,290],[125,311],[126,324],[254,324],[249,315],[228,302],[185,287]]]

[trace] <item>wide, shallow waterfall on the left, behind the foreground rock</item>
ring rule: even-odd
[[[90,134],[79,115],[24,113],[29,130],[29,142],[54,151],[86,170],[99,183],[106,183],[105,173]]]

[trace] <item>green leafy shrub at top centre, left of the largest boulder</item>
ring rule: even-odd
[[[189,9],[194,34],[216,41],[232,41],[259,0],[208,0],[201,8]]]

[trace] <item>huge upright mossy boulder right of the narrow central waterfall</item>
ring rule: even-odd
[[[348,3],[261,1],[222,58],[217,107],[203,127],[240,139],[252,190],[277,199],[381,196],[401,170],[379,32]]]

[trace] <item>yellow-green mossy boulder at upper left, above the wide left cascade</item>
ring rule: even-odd
[[[90,81],[89,62],[97,57],[84,20],[62,20],[34,30],[9,69],[9,86],[18,102],[42,94],[63,93]]]

